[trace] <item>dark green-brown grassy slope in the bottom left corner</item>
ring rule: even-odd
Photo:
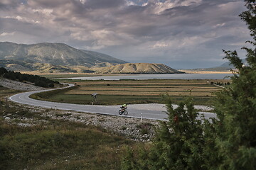
[[[21,128],[0,122],[0,169],[120,169],[132,142],[79,123]]]

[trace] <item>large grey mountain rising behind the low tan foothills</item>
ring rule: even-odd
[[[48,42],[33,45],[0,42],[0,60],[84,67],[92,67],[102,62],[127,63],[100,52],[78,50],[63,43]]]

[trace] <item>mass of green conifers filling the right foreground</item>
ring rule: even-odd
[[[252,48],[248,65],[236,51],[225,51],[235,66],[232,84],[214,99],[217,118],[198,120],[193,100],[186,99],[174,109],[164,96],[168,121],[156,131],[153,144],[139,153],[127,150],[122,169],[256,169],[256,1],[245,0],[247,11],[240,14],[250,29]]]

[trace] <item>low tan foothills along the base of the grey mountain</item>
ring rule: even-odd
[[[84,66],[61,66],[53,64],[21,62],[14,60],[0,60],[0,67],[5,67],[16,72],[33,72],[33,73],[59,73],[59,72],[80,72],[80,73],[99,73],[99,74],[117,74],[117,73],[138,73],[138,74],[164,74],[164,73],[181,73],[164,64],[150,63],[127,63],[113,65],[108,62],[102,62],[94,67]]]

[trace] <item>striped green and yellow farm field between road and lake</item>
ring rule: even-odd
[[[162,103],[161,95],[168,94],[174,103],[186,96],[193,96],[195,104],[210,105],[210,99],[222,88],[213,83],[227,84],[230,80],[119,80],[80,81],[72,80],[78,88],[60,92],[45,98],[63,103],[119,105],[122,103]],[[97,94],[97,102],[91,94]]]

